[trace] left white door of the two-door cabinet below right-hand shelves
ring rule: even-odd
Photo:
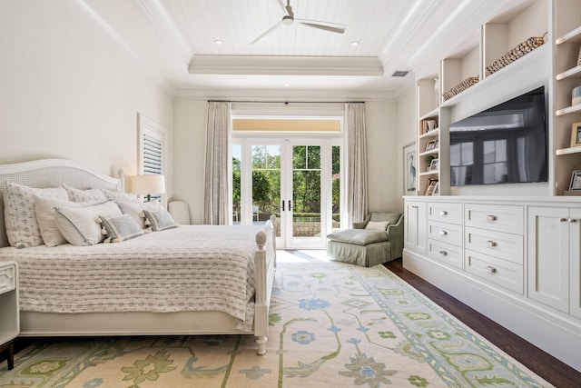
[[[528,209],[528,297],[568,313],[569,211]]]

